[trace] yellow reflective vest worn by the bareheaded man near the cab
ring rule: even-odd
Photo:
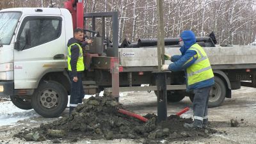
[[[74,43],[74,44],[72,44],[72,45],[69,45],[69,47],[68,47],[68,70],[72,71],[71,65],[70,65],[70,60],[71,60],[71,51],[70,51],[70,50],[71,50],[71,47],[72,47],[73,45],[78,45],[78,47],[79,47],[79,56],[78,56],[78,59],[77,59],[76,70],[77,70],[77,71],[83,71],[83,70],[84,70],[83,49],[82,49],[82,47],[81,47],[79,44],[77,44],[77,43]]]

